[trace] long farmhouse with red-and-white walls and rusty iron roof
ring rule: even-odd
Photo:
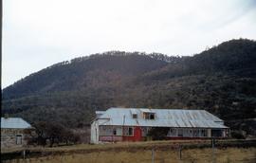
[[[229,136],[224,121],[205,110],[110,108],[96,111],[91,143],[141,141],[155,128],[167,129],[169,139]]]

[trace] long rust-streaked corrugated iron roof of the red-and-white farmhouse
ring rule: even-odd
[[[143,112],[154,113],[155,119],[144,119]],[[137,118],[133,118],[132,113],[137,113]],[[104,123],[101,124],[101,118],[109,118],[109,120],[104,119]],[[205,110],[110,108],[99,120],[100,125],[228,128],[223,125],[222,119]]]

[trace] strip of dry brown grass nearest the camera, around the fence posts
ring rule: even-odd
[[[212,161],[211,149],[187,149],[182,151],[182,159],[179,160],[176,150],[155,150],[155,163],[208,163]],[[256,161],[256,148],[227,148],[216,149],[217,163]],[[38,158],[27,158],[20,163],[137,163],[151,162],[151,150],[139,150],[137,152],[110,151],[93,152],[89,154],[57,154]],[[17,162],[17,160],[15,161]]]

